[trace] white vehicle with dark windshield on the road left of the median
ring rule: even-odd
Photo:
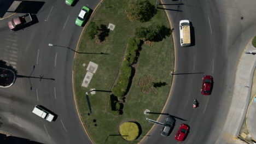
[[[45,110],[40,105],[34,106],[34,110],[32,112],[34,114],[36,114],[37,116],[46,119],[49,122],[53,121],[53,119],[54,119],[54,115],[51,115],[51,113],[49,111]]]

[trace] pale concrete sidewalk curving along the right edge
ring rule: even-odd
[[[223,136],[229,135],[230,138],[226,139],[226,137],[222,137],[222,140],[218,139],[216,143],[224,143],[224,141],[226,143],[231,142],[234,144],[245,143],[236,139],[236,136],[239,135],[243,120],[247,114],[246,112],[251,96],[253,74],[256,65],[256,55],[246,54],[245,52],[254,50],[256,49],[252,45],[252,40],[250,40],[238,63],[232,102],[221,134]],[[256,119],[255,112],[256,103],[251,105],[248,113],[248,128],[251,131],[251,135],[256,138],[256,124],[254,124],[254,118]]]

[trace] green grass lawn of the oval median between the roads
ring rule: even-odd
[[[150,0],[150,2],[155,4],[155,0]],[[105,143],[131,143],[125,141],[121,136],[116,136],[119,134],[119,124],[127,119],[141,124],[142,135],[135,141],[141,140],[143,135],[146,135],[153,125],[146,121],[146,117],[143,114],[144,110],[149,109],[152,112],[161,112],[171,87],[172,76],[170,76],[170,71],[173,70],[174,53],[173,41],[170,36],[154,43],[153,47],[142,45],[135,76],[133,77],[130,91],[126,96],[123,115],[115,116],[107,111],[109,95],[107,92],[96,92],[94,95],[89,95],[92,114],[90,116],[86,114],[89,110],[85,92],[90,91],[90,88],[111,91],[115,78],[118,75],[127,39],[134,37],[135,29],[152,23],[160,23],[170,27],[165,11],[162,9],[158,9],[158,14],[149,22],[129,21],[125,13],[126,5],[127,1],[125,0],[105,0],[95,11],[90,21],[95,21],[98,26],[101,24],[108,26],[108,23],[115,25],[114,31],[109,33],[108,43],[96,46],[95,40],[89,39],[85,29],[79,49],[77,50],[79,52],[91,53],[103,52],[109,55],[79,53],[74,61],[75,97],[79,111],[83,114],[82,119],[86,129],[95,143],[104,143],[107,138]],[[89,87],[84,88],[81,85],[86,74],[86,67],[90,61],[97,63],[98,69],[92,77]],[[85,67],[83,67],[83,63],[86,64]],[[143,94],[141,87],[138,86],[138,82],[141,76],[148,74],[152,75],[156,82],[166,82],[167,85],[156,88],[157,94],[154,92],[150,92],[148,95]],[[156,119],[158,116],[150,115],[150,119]],[[96,127],[94,126],[95,123],[91,121],[92,119],[97,120]]]

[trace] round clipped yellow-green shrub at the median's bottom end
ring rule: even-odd
[[[120,125],[120,134],[125,140],[133,141],[139,135],[139,127],[136,123],[125,122]]]

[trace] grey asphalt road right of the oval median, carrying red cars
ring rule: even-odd
[[[178,143],[174,139],[179,125],[188,124],[189,134],[182,143],[226,143],[223,137],[234,89],[236,67],[249,39],[256,35],[252,17],[254,1],[162,1],[174,28],[177,67],[171,99],[164,113],[176,117],[168,137],[160,136],[156,126],[142,143]],[[160,10],[160,9],[159,9]],[[195,45],[179,44],[179,21],[191,21]],[[213,76],[211,95],[200,92],[202,76]],[[242,84],[241,84],[242,85]],[[199,107],[193,109],[193,100]],[[149,114],[149,117],[152,114]],[[163,115],[160,119],[164,122]]]

